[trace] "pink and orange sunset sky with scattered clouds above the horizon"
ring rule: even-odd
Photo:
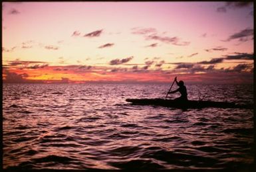
[[[253,83],[252,2],[3,2],[3,83]]]

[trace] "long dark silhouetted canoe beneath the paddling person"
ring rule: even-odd
[[[237,105],[236,103],[217,101],[174,101],[166,99],[126,99],[132,105],[155,105],[174,108],[253,108],[253,105]]]

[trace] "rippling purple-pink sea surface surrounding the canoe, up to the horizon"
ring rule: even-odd
[[[181,110],[125,101],[164,98],[169,87],[4,83],[3,168],[253,168],[252,109]],[[186,87],[191,100],[253,103],[253,85]]]

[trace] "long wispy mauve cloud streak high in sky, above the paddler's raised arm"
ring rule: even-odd
[[[178,37],[169,37],[169,36],[158,36],[156,34],[152,34],[146,36],[146,40],[158,40],[160,42],[165,42],[167,44],[173,44],[176,46],[188,46],[190,42],[180,42]]]

